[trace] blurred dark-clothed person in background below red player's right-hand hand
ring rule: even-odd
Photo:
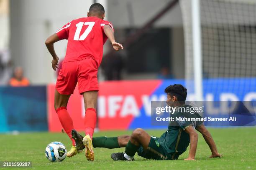
[[[119,52],[113,53],[111,56],[106,56],[102,61],[105,80],[121,80],[123,70],[123,58]]]

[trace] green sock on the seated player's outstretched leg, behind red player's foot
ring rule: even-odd
[[[120,148],[118,144],[118,137],[108,138],[106,136],[92,138],[93,148]]]

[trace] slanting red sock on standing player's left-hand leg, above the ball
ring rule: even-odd
[[[69,116],[69,113],[67,112],[67,107],[59,107],[58,109],[56,109],[56,112],[62,127],[64,128],[69,138],[72,140],[73,146],[75,146],[76,143],[71,135],[71,131],[74,129],[73,120]]]

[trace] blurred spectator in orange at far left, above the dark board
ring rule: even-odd
[[[13,77],[9,81],[10,86],[28,86],[29,81],[26,77],[23,77],[23,68],[16,67],[13,73]]]

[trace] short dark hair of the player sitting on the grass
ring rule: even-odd
[[[164,89],[165,93],[176,96],[177,100],[184,103],[187,98],[187,88],[180,84],[169,85]]]

